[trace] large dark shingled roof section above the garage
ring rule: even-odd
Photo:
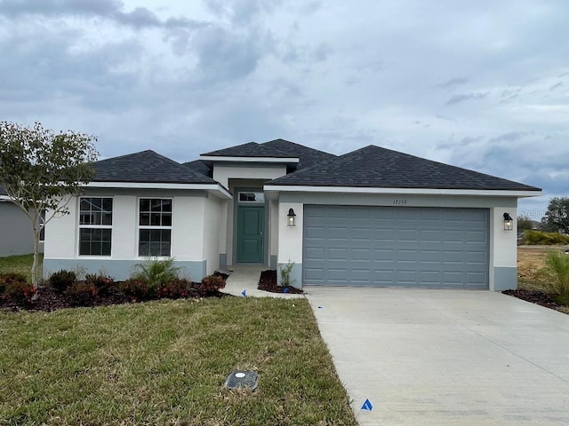
[[[298,170],[268,185],[539,191],[501,177],[366,146],[330,162]]]

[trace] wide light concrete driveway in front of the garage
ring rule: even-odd
[[[569,315],[491,291],[304,289],[361,425],[569,424]]]

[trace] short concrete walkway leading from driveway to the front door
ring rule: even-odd
[[[260,272],[267,269],[262,264],[236,264],[227,267],[231,272],[225,281],[225,288],[220,290],[232,296],[251,297],[277,297],[277,298],[302,298],[304,295],[292,295],[289,293],[271,293],[259,290]]]

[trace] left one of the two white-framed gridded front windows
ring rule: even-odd
[[[113,199],[82,197],[79,201],[79,255],[110,256]]]

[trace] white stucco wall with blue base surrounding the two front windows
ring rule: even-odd
[[[104,270],[117,280],[128,278],[138,256],[139,198],[172,198],[172,253],[176,263],[188,270],[192,280],[201,280],[219,266],[220,209],[225,202],[200,191],[102,190],[90,188],[85,196],[113,198],[111,256],[78,255],[78,205],[69,203],[69,215],[46,226],[44,274],[66,269],[86,272]],[[204,242],[204,239],[208,240]]]

